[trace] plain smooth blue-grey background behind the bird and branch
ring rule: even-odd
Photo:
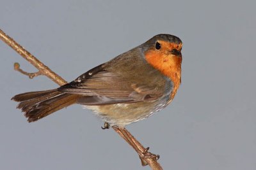
[[[255,1],[1,1],[0,27],[65,80],[159,33],[179,36],[182,85],[131,124],[164,169],[256,169]],[[58,87],[0,41],[0,169],[149,169],[89,110],[28,124],[15,94]]]

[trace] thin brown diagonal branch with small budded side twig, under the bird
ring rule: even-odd
[[[65,81],[61,76],[54,73],[49,69],[49,67],[45,66],[40,60],[36,59],[34,55],[29,53],[25,48],[20,46],[17,42],[15,42],[10,36],[6,35],[1,29],[0,29],[0,39],[4,41],[7,45],[9,45],[13,50],[15,50],[17,53],[19,53],[24,59],[28,60],[33,66],[35,66],[38,69],[38,72],[36,73],[27,73],[26,71],[23,71],[20,69],[19,63],[15,63],[14,67],[15,70],[19,71],[22,74],[26,74],[29,76],[29,78],[33,78],[38,75],[45,75],[48,78],[50,78],[52,81],[57,83],[58,85],[65,85],[67,81]],[[160,164],[157,162],[157,159],[159,158],[159,155],[154,155],[150,152],[148,152],[148,148],[144,148],[139,141],[132,136],[132,134],[127,131],[125,128],[118,128],[113,127],[113,129],[129,143],[129,145],[134,148],[134,150],[138,153],[141,159],[141,164],[143,166],[147,165],[150,166],[153,170],[161,170],[163,169]]]

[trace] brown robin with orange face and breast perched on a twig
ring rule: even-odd
[[[182,41],[157,34],[57,89],[12,97],[28,122],[72,104],[92,110],[111,127],[125,127],[165,108],[181,83]]]

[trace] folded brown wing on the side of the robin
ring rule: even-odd
[[[78,103],[88,105],[150,101],[162,95],[156,87],[138,86],[136,82],[107,71],[104,64],[87,71],[58,90],[84,96]]]

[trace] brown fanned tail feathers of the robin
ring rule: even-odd
[[[17,108],[24,112],[28,122],[35,122],[55,111],[76,103],[78,98],[76,94],[65,94],[54,89],[18,94],[12,97],[12,100],[20,102]]]

